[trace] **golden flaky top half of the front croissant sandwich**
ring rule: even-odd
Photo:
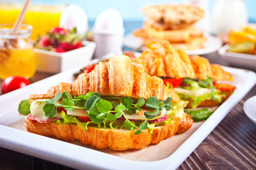
[[[73,84],[60,83],[51,87],[46,94],[34,94],[30,99],[51,99],[57,92],[67,91],[72,96],[87,92],[99,92],[102,96],[145,97],[156,96],[159,100],[172,97],[172,101],[180,101],[180,97],[168,89],[163,80],[150,76],[145,71],[132,65],[130,57],[115,55],[108,62],[100,62],[91,73],[80,74]]]

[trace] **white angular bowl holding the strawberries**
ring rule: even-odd
[[[83,47],[69,52],[57,53],[47,50],[34,50],[36,57],[36,70],[49,73],[60,73],[72,67],[83,66],[84,63],[92,60],[96,44],[90,41],[83,41]]]

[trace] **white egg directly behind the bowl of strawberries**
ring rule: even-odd
[[[86,34],[88,30],[88,18],[83,8],[72,4],[61,13],[60,27],[73,29],[76,27],[77,34]]]

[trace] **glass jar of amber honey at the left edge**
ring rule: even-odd
[[[13,34],[13,24],[0,25],[0,79],[8,76],[31,78],[35,74],[31,30],[31,25],[24,24]]]

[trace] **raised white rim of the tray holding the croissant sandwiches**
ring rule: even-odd
[[[57,139],[31,134],[29,132],[6,127],[4,125],[0,125],[0,146],[77,169],[83,169],[84,167],[102,169],[116,169],[116,167],[118,167],[118,169],[134,169],[134,167],[135,169],[176,169],[193,152],[193,150],[200,145],[200,143],[208,136],[216,125],[221,122],[221,120],[227,115],[228,111],[230,111],[255,85],[256,74],[252,71],[232,67],[224,68],[231,73],[243,74],[243,76],[246,77],[246,81],[244,81],[243,84],[237,88],[234,94],[232,94],[232,96],[230,96],[225,103],[221,104],[221,106],[211,115],[211,117],[209,117],[205,123],[202,124],[184,143],[182,143],[182,145],[180,145],[180,147],[172,155],[165,159],[152,162],[127,160],[114,155],[109,155],[107,153],[102,153],[97,150],[85,148],[83,146],[77,146]],[[44,81],[51,81],[58,76],[65,76],[65,74],[74,73],[74,71],[79,69],[80,67],[77,67],[76,69],[56,74],[22,89],[4,94],[3,96],[0,96],[0,101],[6,97],[19,96],[22,94],[22,92],[25,92],[25,90],[32,89],[32,87],[35,88]],[[207,132],[205,132],[205,129],[207,129]],[[15,139],[13,139],[13,136],[15,136]],[[27,138],[33,139],[33,143],[31,143],[32,141],[28,141]],[[39,143],[40,141],[51,143],[51,146],[42,145]],[[64,147],[65,150],[60,150],[59,148],[61,147]],[[90,157],[86,157],[84,160],[83,157],[81,157],[81,155],[84,155],[84,153],[90,155]],[[58,159],[56,159],[56,157],[58,157]],[[100,162],[100,164],[96,159],[99,157],[100,160],[104,160]]]

